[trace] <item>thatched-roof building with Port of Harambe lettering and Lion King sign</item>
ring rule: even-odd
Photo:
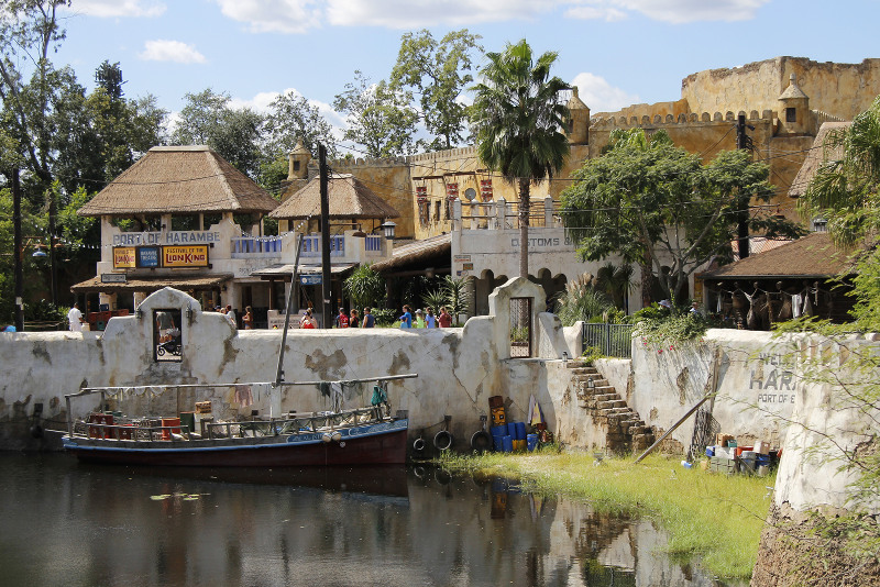
[[[207,146],[153,147],[78,210],[101,219],[101,261],[95,278],[72,289],[97,292],[112,309],[133,309],[165,286],[202,306],[265,304],[265,284],[249,276],[284,251],[283,240],[262,233],[277,206]]]

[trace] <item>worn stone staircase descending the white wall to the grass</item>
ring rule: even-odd
[[[627,406],[595,367],[576,362],[568,367],[572,369],[578,405],[590,412],[596,429],[604,432],[606,451],[636,453],[653,443],[651,427],[645,425],[638,412]]]

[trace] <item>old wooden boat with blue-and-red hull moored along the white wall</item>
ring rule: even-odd
[[[407,377],[416,375],[378,377],[370,381]],[[74,398],[101,394],[103,406],[106,395],[130,389],[85,388],[65,396],[67,413],[72,413],[70,401]],[[408,419],[406,412],[392,416],[387,401],[369,408],[283,418],[226,422],[209,419],[199,422],[198,428],[198,431],[189,430],[189,427],[180,424],[179,419],[118,419],[100,413],[74,422],[68,417],[68,433],[62,438],[62,443],[80,461],[117,465],[299,467],[406,462]]]

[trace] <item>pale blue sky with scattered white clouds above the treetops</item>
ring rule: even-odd
[[[557,52],[553,74],[602,112],[676,100],[703,69],[880,57],[878,22],[880,0],[73,0],[53,58],[89,89],[118,62],[128,98],[151,93],[172,113],[206,88],[257,110],[293,90],[341,126],[330,104],[354,71],[387,79],[400,36],[421,29]]]

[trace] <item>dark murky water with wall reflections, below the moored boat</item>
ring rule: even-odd
[[[718,585],[663,556],[650,521],[430,468],[0,455],[0,489],[2,585]]]

